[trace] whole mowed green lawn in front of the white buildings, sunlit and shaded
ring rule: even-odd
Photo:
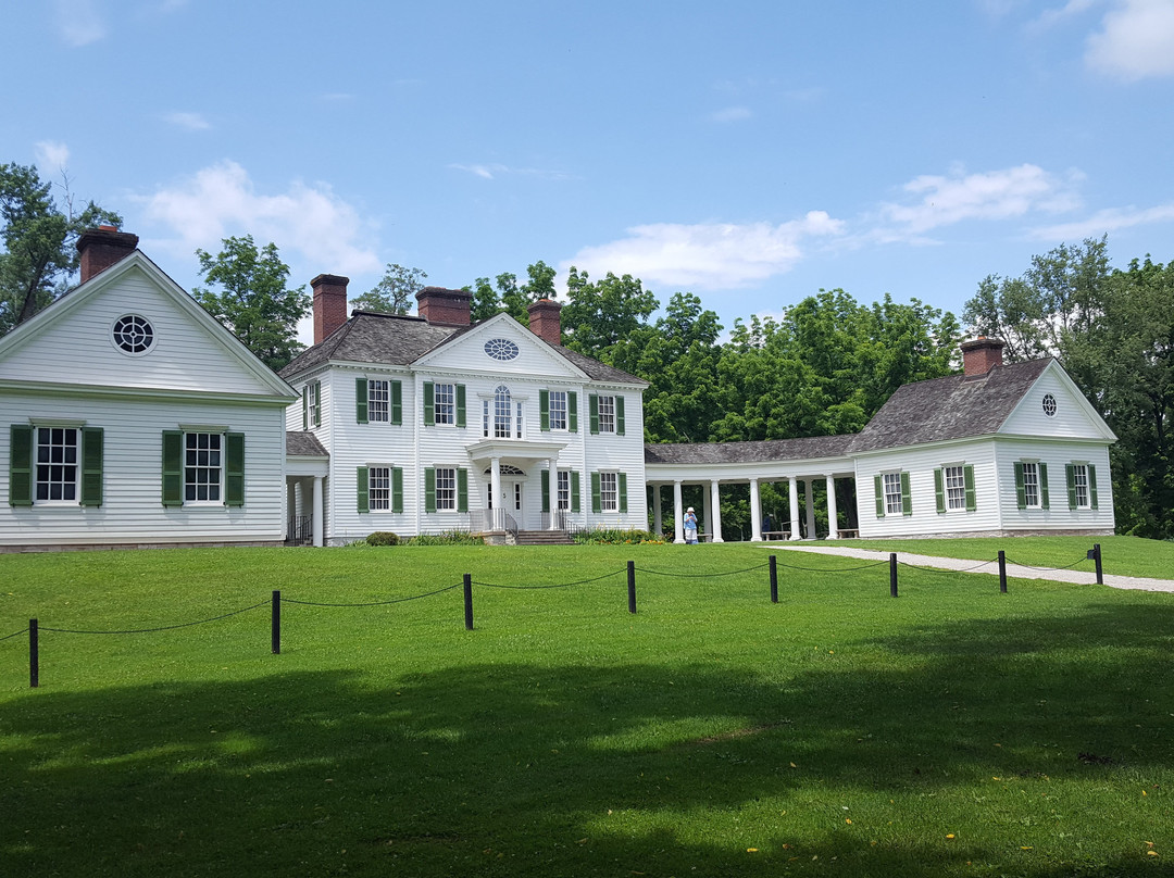
[[[1174,596],[769,554],[2,556],[0,636],[263,606],[0,642],[0,874],[1169,872]]]

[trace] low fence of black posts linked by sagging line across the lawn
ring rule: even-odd
[[[1019,565],[1020,567],[1030,567],[1033,570],[1068,570],[1075,567],[1082,561],[1094,561],[1097,566],[1097,583],[1104,585],[1104,574],[1101,569],[1101,554],[1100,543],[1093,546],[1088,551],[1085,558],[1074,561],[1065,567],[1030,567],[1028,565]],[[249,613],[255,609],[264,607],[266,603],[270,605],[270,633],[271,633],[271,649],[275,655],[281,654],[281,641],[282,641],[282,605],[295,605],[301,607],[329,607],[329,608],[367,608],[367,607],[386,607],[396,603],[405,603],[407,601],[418,601],[424,597],[434,597],[447,592],[452,592],[457,588],[463,588],[464,592],[464,610],[465,610],[465,628],[466,630],[473,630],[473,586],[480,588],[492,588],[492,589],[512,589],[512,590],[544,590],[553,588],[573,588],[576,586],[587,586],[594,582],[600,582],[602,580],[613,579],[627,573],[628,582],[628,613],[635,614],[636,612],[636,573],[642,573],[649,576],[673,576],[677,579],[718,579],[724,576],[741,576],[750,573],[756,573],[763,568],[769,568],[769,582],[770,582],[770,602],[778,603],[778,567],[787,567],[795,570],[805,572],[818,572],[818,573],[848,573],[855,570],[864,570],[883,565],[889,566],[889,589],[890,594],[896,597],[897,586],[898,586],[898,565],[913,570],[924,570],[929,573],[937,574],[956,574],[956,573],[971,573],[978,570],[989,565],[997,563],[999,566],[999,590],[1006,594],[1007,590],[1007,559],[1006,553],[999,552],[998,558],[991,561],[983,561],[973,567],[967,567],[964,569],[943,569],[939,567],[924,567],[918,565],[905,563],[898,561],[897,553],[890,553],[888,561],[877,561],[875,563],[866,563],[855,567],[843,567],[843,568],[811,568],[811,567],[798,567],[792,565],[780,565],[775,555],[770,555],[765,563],[755,565],[754,567],[745,567],[736,570],[720,570],[716,573],[683,573],[676,570],[655,570],[646,567],[637,568],[635,561],[627,562],[626,570],[613,570],[610,573],[605,573],[599,576],[591,576],[588,579],[575,580],[573,582],[560,582],[560,583],[541,583],[541,585],[505,585],[497,582],[480,582],[474,581],[472,574],[466,573],[461,582],[444,586],[441,588],[433,589],[431,592],[424,592],[421,594],[407,595],[404,597],[392,597],[380,601],[362,601],[352,603],[339,603],[339,602],[326,602],[326,601],[308,601],[295,597],[283,597],[281,590],[274,590],[272,596],[268,601],[261,601],[254,603],[250,607],[243,607],[241,609],[231,610],[230,613],[223,613],[221,615],[211,616],[208,619],[200,619],[193,622],[180,622],[176,624],[156,626],[151,628],[126,628],[116,630],[94,630],[94,629],[81,629],[81,628],[54,628],[49,626],[41,626],[36,619],[28,620],[28,627],[19,632],[13,632],[12,634],[6,634],[0,636],[0,643],[19,637],[23,634],[28,635],[28,660],[29,660],[29,687],[36,688],[40,685],[40,634],[41,632],[50,634],[65,634],[65,635],[131,635],[131,634],[153,634],[158,632],[174,632],[182,628],[191,628],[201,624],[209,624],[211,622],[220,622],[225,619],[231,619],[232,616],[238,616],[244,613]]]

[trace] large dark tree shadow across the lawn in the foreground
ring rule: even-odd
[[[996,838],[983,805],[990,829],[946,843],[933,809],[991,776],[1035,796],[1168,771],[1170,632],[1174,609],[1106,603],[795,670],[552,657],[28,694],[0,705],[0,873],[1134,874],[1154,864],[1114,839]],[[870,804],[846,824],[850,797]]]

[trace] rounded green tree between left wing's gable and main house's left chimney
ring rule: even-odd
[[[216,256],[196,250],[201,277],[222,291],[194,289],[191,295],[277,371],[302,349],[297,324],[310,312],[310,296],[304,285],[286,286],[290,269],[281,261],[276,244],[258,250],[251,235],[222,243]]]

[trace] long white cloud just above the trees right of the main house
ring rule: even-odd
[[[822,210],[781,225],[770,223],[656,223],[628,229],[628,237],[587,246],[561,264],[592,277],[610,271],[680,290],[726,290],[789,271],[810,238],[841,235],[844,223]]]

